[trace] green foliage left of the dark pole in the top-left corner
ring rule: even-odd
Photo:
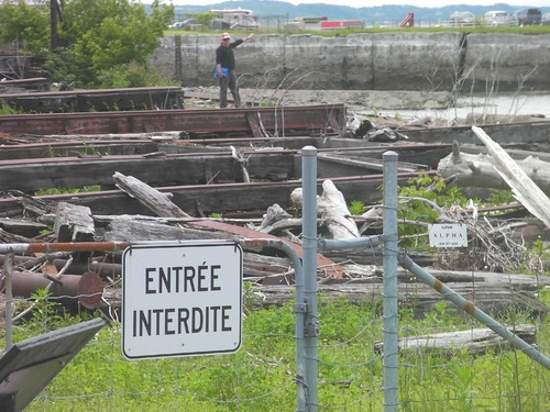
[[[50,46],[50,8],[47,0],[29,5],[24,0],[18,3],[0,4],[0,44],[16,44],[31,53],[43,53]]]

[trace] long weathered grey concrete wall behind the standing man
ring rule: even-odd
[[[217,85],[219,36],[182,36],[176,43],[164,37],[151,63],[185,87]],[[258,34],[235,48],[235,57],[240,86],[250,88],[550,90],[550,35]]]

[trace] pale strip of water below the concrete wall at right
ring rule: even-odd
[[[471,94],[458,99],[457,108],[452,109],[427,109],[427,110],[381,110],[381,114],[402,119],[430,118],[450,124],[462,124],[472,115],[485,115],[495,118],[516,118],[516,121],[525,121],[529,116],[546,118],[550,120],[550,92],[529,93],[501,93],[487,97],[486,94]],[[510,121],[510,120],[508,120]],[[488,123],[488,122],[487,122]]]

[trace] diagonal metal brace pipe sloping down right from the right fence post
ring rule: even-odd
[[[451,302],[457,304],[457,307],[461,308],[464,312],[466,312],[471,316],[482,322],[485,326],[487,326],[493,332],[505,338],[507,342],[514,344],[516,348],[525,353],[531,359],[539,363],[544,368],[550,369],[550,359],[548,357],[542,355],[539,350],[537,350],[534,346],[529,345],[527,342],[521,339],[515,333],[508,331],[504,325],[502,325],[496,320],[487,315],[485,312],[476,308],[473,302],[465,300],[454,290],[446,286],[441,280],[437,279],[430,272],[426,271],[420,266],[415,264],[413,259],[406,255],[405,252],[399,253],[398,259],[403,268],[409,270],[418,279],[420,279],[426,285],[436,289],[446,299],[449,299]]]

